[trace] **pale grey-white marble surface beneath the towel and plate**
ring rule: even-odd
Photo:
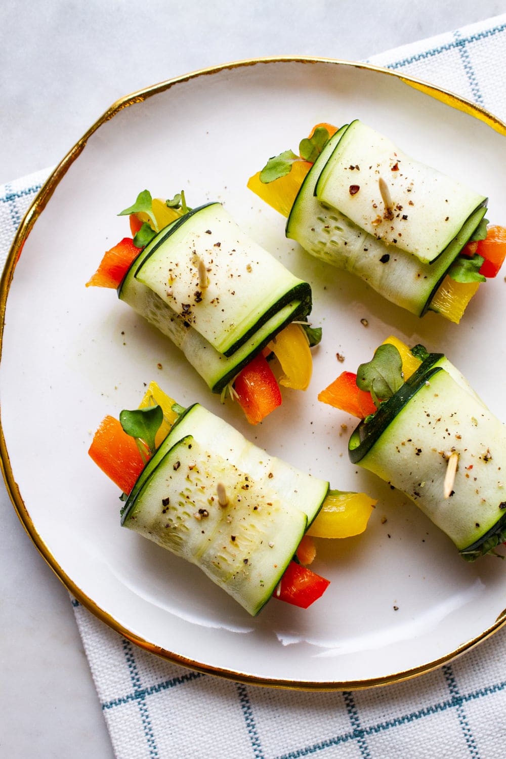
[[[506,10],[482,0],[2,0],[0,183],[57,163],[121,96],[241,58],[359,60]],[[112,757],[68,593],[0,486],[0,755]]]

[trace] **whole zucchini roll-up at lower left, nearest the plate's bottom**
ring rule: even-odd
[[[329,491],[155,383],[141,408],[102,421],[90,456],[124,492],[124,527],[197,565],[252,615],[273,594],[303,608],[319,598],[328,581],[305,566],[315,553],[306,531],[332,534],[334,520],[358,534],[375,503]]]

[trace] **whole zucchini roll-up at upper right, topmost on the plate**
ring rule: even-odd
[[[320,126],[300,143],[303,158],[288,153],[248,185],[288,216],[287,237],[416,316],[434,310],[458,323],[501,266],[506,234],[487,229],[486,197],[361,121]]]

